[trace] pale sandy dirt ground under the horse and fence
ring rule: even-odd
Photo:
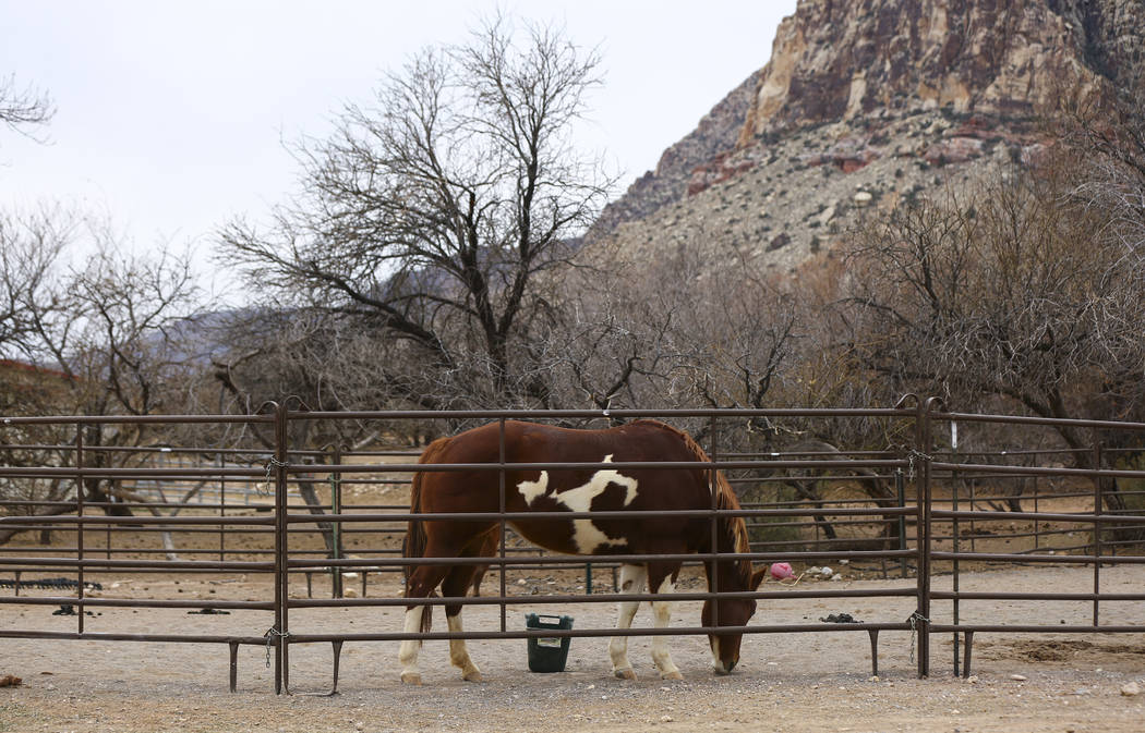
[[[268,581],[205,576],[97,577],[105,596],[173,597],[204,600],[264,598]],[[523,581],[523,582],[518,582]],[[491,590],[497,580],[485,581]],[[911,580],[844,580],[831,589],[909,588]],[[118,583],[112,588],[113,583]],[[315,581],[315,595],[322,588]],[[1008,569],[963,576],[963,590],[1047,588],[1092,589],[1092,571],[1081,567]],[[949,588],[949,576],[934,587]],[[1145,567],[1103,568],[1101,590],[1139,591]],[[523,596],[576,591],[567,579],[539,574],[515,579]],[[803,581],[800,588],[815,588]],[[767,584],[764,590],[775,589]],[[11,590],[0,590],[10,593]],[[49,591],[29,591],[35,595]],[[302,579],[291,590],[306,596]],[[370,596],[398,595],[393,580],[371,582]],[[607,599],[607,596],[601,596]],[[523,597],[510,606],[511,628],[523,628],[527,611],[567,613],[577,629],[607,629],[615,604],[550,606]],[[0,606],[0,628],[73,631],[77,619],[53,615],[52,606]],[[188,614],[185,609],[96,608],[85,619],[89,631],[139,631],[261,636],[267,612]],[[902,621],[914,611],[910,598],[847,598],[760,603],[756,623],[815,623],[830,613],[862,621]],[[1088,623],[1089,603],[965,601],[966,621],[1003,618],[1010,623]],[[948,603],[932,609],[948,621]],[[436,614],[442,628],[441,612]],[[1139,603],[1101,606],[1101,623],[1142,623]],[[469,630],[495,629],[499,609],[469,607]],[[673,623],[694,626],[698,604],[677,604]],[[291,630],[299,634],[401,630],[400,608],[295,609]],[[650,626],[647,606],[637,624]],[[528,671],[524,640],[473,640],[469,650],[485,682],[463,683],[448,662],[447,644],[429,642],[421,654],[425,684],[403,686],[396,643],[347,643],[339,694],[329,690],[331,651],[326,644],[292,645],[291,686],[274,694],[274,672],[264,650],[242,647],[238,693],[228,692],[226,645],[45,642],[0,639],[0,678],[23,679],[0,687],[0,732],[124,731],[911,731],[911,732],[1082,732],[1142,731],[1145,695],[1126,695],[1130,683],[1145,687],[1145,639],[1139,635],[978,634],[970,680],[953,675],[951,639],[932,638],[932,670],[917,679],[910,659],[910,632],[879,637],[878,678],[871,677],[870,645],[863,632],[759,634],[744,638],[734,675],[709,670],[706,639],[673,637],[670,646],[682,682],[655,675],[649,639],[633,638],[630,656],[635,682],[611,677],[606,638],[576,638],[566,671]]]

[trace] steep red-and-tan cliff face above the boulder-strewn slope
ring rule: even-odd
[[[805,0],[740,145],[808,124],[949,107],[1028,115],[1140,82],[1140,0]]]

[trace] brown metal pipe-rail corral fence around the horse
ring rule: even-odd
[[[926,676],[931,669],[931,635],[950,634],[955,639],[954,667],[956,672],[970,674],[972,642],[984,632],[1143,632],[1145,612],[1131,614],[1130,623],[1103,623],[1103,608],[1110,604],[1145,600],[1145,593],[1113,593],[1101,589],[1101,569],[1123,564],[1145,563],[1142,535],[1145,535],[1145,511],[1139,509],[1138,483],[1145,472],[1110,465],[1132,464],[1113,456],[1132,456],[1145,453],[1145,424],[1110,421],[1048,421],[1001,415],[972,415],[947,413],[935,400],[905,400],[891,409],[787,409],[787,411],[670,411],[639,412],[613,411],[607,417],[624,421],[655,416],[678,424],[700,425],[704,433],[705,449],[712,457],[711,468],[725,471],[737,492],[744,496],[741,510],[733,512],[744,518],[752,537],[751,551],[741,555],[711,552],[681,558],[692,563],[705,559],[750,559],[755,564],[788,561],[802,565],[845,561],[852,567],[864,567],[872,577],[913,577],[909,587],[886,585],[862,589],[842,589],[831,585],[783,588],[750,593],[763,607],[769,599],[810,601],[822,598],[882,597],[900,598],[910,607],[908,618],[859,623],[800,623],[750,624],[742,628],[720,629],[744,634],[796,632],[866,632],[871,646],[871,670],[878,671],[878,636],[882,631],[910,631],[915,638],[917,674]],[[224,644],[230,650],[231,688],[235,688],[237,651],[242,645],[264,646],[273,656],[276,692],[290,687],[290,648],[297,644],[330,643],[334,659],[334,690],[338,680],[338,660],[342,644],[408,638],[530,638],[562,636],[649,636],[654,634],[701,635],[714,628],[693,626],[668,630],[635,628],[617,631],[611,628],[551,630],[513,629],[507,622],[507,607],[527,600],[529,604],[614,603],[616,600],[650,600],[649,593],[594,592],[592,567],[615,568],[619,563],[638,563],[639,557],[613,556],[597,558],[586,565],[584,557],[564,557],[537,552],[535,548],[516,547],[506,532],[497,553],[483,560],[499,583],[497,591],[480,597],[434,598],[421,603],[441,605],[447,601],[463,605],[499,606],[499,622],[493,629],[466,632],[409,634],[381,631],[362,634],[307,632],[305,626],[292,622],[292,612],[314,608],[366,609],[378,607],[404,608],[409,601],[397,593],[368,596],[366,579],[370,574],[401,573],[406,566],[448,561],[449,558],[406,559],[401,556],[398,542],[410,520],[404,503],[378,501],[347,501],[348,487],[358,491],[394,487],[409,483],[418,470],[416,449],[370,453],[347,453],[335,448],[325,451],[299,449],[291,445],[292,423],[297,421],[585,421],[600,419],[590,412],[377,412],[377,413],[303,413],[277,407],[270,414],[251,416],[150,416],[150,417],[24,417],[8,419],[5,425],[52,424],[74,428],[74,441],[54,446],[46,452],[71,456],[69,465],[0,465],[0,480],[9,486],[21,481],[70,481],[72,491],[63,499],[40,501],[35,497],[0,496],[0,532],[61,533],[69,542],[64,545],[35,544],[31,541],[0,544],[0,607],[6,605],[71,606],[77,609],[73,631],[45,631],[33,628],[0,627],[2,638],[93,639],[131,642],[185,642]],[[853,453],[822,453],[795,451],[751,454],[733,447],[731,437],[744,430],[747,421],[767,417],[816,420],[866,420],[894,423],[911,438],[906,445],[889,446],[883,451]],[[93,424],[150,422],[180,423],[247,423],[273,431],[271,449],[226,451],[184,449],[175,447],[150,448],[161,461],[147,465],[113,465],[110,461],[93,461],[102,449],[85,446],[85,428]],[[1093,431],[1093,446],[1079,460],[1076,448],[1039,451],[992,451],[987,453],[954,453],[935,451],[935,430],[951,425],[972,427],[1000,424],[1024,430],[1053,430],[1069,427]],[[890,431],[889,431],[890,432]],[[1103,448],[1101,435],[1124,437],[1120,454]],[[724,437],[727,448],[721,449]],[[1136,443],[1134,443],[1136,441]],[[0,455],[27,449],[10,439],[0,445]],[[1130,445],[1130,447],[1126,447]],[[1139,449],[1132,445],[1142,446]],[[42,447],[42,446],[40,446]],[[137,451],[137,449],[135,449]],[[26,453],[26,451],[25,451]],[[173,456],[189,456],[173,461]],[[245,464],[238,459],[253,461]],[[160,464],[161,463],[161,464]],[[601,464],[603,465],[603,464]],[[594,464],[579,464],[593,468]],[[1079,468],[1080,467],[1080,468]],[[460,467],[456,467],[460,468]],[[468,467],[473,469],[473,467]],[[513,467],[490,463],[483,470],[505,472]],[[545,468],[545,467],[532,467]],[[554,464],[555,468],[555,464]],[[435,464],[434,470],[450,470]],[[114,481],[120,499],[93,502],[80,487],[96,479]],[[1024,481],[1018,489],[1006,487],[1006,481]],[[864,488],[876,483],[879,491]],[[1116,484],[1113,484],[1116,483]],[[504,484],[504,483],[503,483]],[[1139,484],[1145,486],[1145,483]],[[197,486],[197,488],[196,488]],[[126,487],[126,488],[124,488]],[[811,487],[811,488],[808,488]],[[210,491],[207,491],[210,489]],[[323,497],[317,499],[318,493]],[[1116,509],[1110,508],[1110,492],[1119,497]],[[376,492],[374,492],[376,493]],[[133,496],[124,501],[123,495]],[[172,496],[194,496],[195,502],[171,501]],[[129,510],[129,513],[128,511]],[[175,511],[180,513],[175,513]],[[149,516],[141,516],[145,513]],[[726,513],[712,509],[705,516]],[[572,516],[572,515],[570,515]],[[587,515],[586,515],[587,516]],[[420,519],[433,515],[418,515]],[[499,521],[507,526],[512,516],[502,515]],[[1016,525],[1022,531],[990,529],[998,523]],[[1075,527],[1069,529],[1068,527]],[[175,534],[194,537],[185,547],[142,542],[141,537]],[[1077,541],[1077,535],[1082,540]],[[207,542],[211,537],[211,542]],[[42,537],[41,537],[42,539]],[[1026,541],[1016,551],[1000,551],[997,543]],[[165,540],[165,543],[167,540]],[[211,547],[207,547],[211,544]],[[147,547],[144,547],[147,545]],[[194,547],[192,547],[194,545]],[[352,548],[347,551],[347,548]],[[166,555],[166,558],[160,556]],[[194,558],[194,559],[185,559]],[[456,558],[455,558],[456,559]],[[647,558],[645,558],[647,559]],[[473,560],[463,560],[473,561]],[[963,591],[960,581],[966,572],[995,564],[1080,564],[1092,571],[1092,590],[1085,592],[1017,593]],[[584,592],[529,596],[512,592],[507,581],[511,571],[566,569],[584,572]],[[970,568],[970,569],[968,569]],[[935,573],[951,573],[953,588],[935,590],[931,580]],[[362,579],[361,592],[350,592],[345,585],[346,574]],[[44,590],[42,575],[63,574],[71,593],[32,593]],[[114,593],[93,595],[94,582],[128,574],[237,574],[264,576],[271,580],[273,593],[256,600],[212,600],[181,598],[126,598]],[[33,576],[34,575],[34,576]],[[306,597],[291,595],[291,579],[305,575]],[[316,598],[310,579],[330,577],[330,597]],[[72,581],[74,579],[74,581]],[[598,580],[599,585],[599,580]],[[48,590],[53,590],[48,588]],[[23,592],[22,592],[23,591]],[[106,591],[106,589],[104,589]],[[706,600],[718,593],[685,590],[673,598]],[[1076,601],[1091,607],[1088,623],[1013,623],[1005,619],[992,622],[964,622],[962,609],[980,600],[1014,600],[1036,604],[1044,600]],[[933,623],[931,608],[935,603],[950,604],[950,623]],[[188,608],[210,605],[215,612],[273,613],[269,630],[260,632],[251,624],[251,632],[239,635],[196,635],[180,632],[120,632],[86,629],[85,615],[89,609],[105,607],[131,608]],[[206,609],[206,608],[204,608]],[[297,613],[294,613],[297,618]]]

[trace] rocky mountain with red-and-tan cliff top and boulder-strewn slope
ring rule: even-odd
[[[1145,0],[800,0],[591,238],[792,269],[863,210],[1029,160],[1065,95],[1145,106]]]

